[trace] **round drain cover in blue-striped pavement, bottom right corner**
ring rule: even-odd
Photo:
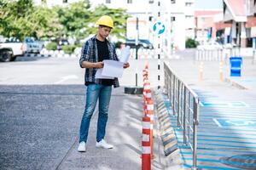
[[[230,167],[241,169],[256,169],[256,154],[222,157],[220,161]]]

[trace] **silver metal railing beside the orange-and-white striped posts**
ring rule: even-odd
[[[164,63],[165,91],[171,101],[173,116],[177,116],[177,127],[183,129],[183,144],[193,151],[193,169],[197,164],[197,126],[199,124],[199,98]]]

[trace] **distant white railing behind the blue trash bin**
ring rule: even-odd
[[[194,60],[225,61],[227,63],[231,56],[236,55],[252,59],[252,64],[256,61],[256,49],[253,48],[196,49]]]

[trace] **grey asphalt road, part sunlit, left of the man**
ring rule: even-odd
[[[1,169],[55,169],[77,138],[84,110],[78,59],[0,63]]]

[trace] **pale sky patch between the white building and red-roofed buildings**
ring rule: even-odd
[[[216,9],[222,6],[223,0],[195,0],[195,8]]]

